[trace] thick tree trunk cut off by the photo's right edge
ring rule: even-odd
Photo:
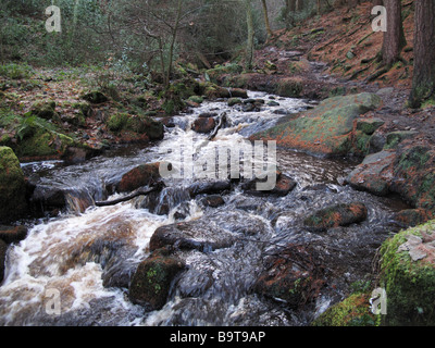
[[[414,73],[410,107],[435,96],[435,0],[415,1]]]

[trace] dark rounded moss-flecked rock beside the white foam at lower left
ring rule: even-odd
[[[153,252],[133,276],[128,289],[130,301],[148,310],[161,309],[166,303],[172,282],[184,268],[182,260],[163,251]]]

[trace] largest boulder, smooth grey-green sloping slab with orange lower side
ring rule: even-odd
[[[330,98],[296,119],[251,136],[251,140],[272,139],[282,147],[326,156],[358,152],[364,145],[358,145],[357,149],[355,147],[359,136],[355,132],[355,123],[360,115],[380,104],[380,97],[368,92]],[[363,142],[366,144],[368,139]]]

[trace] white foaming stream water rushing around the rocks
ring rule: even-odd
[[[250,97],[274,99],[261,92]],[[306,325],[343,298],[353,282],[370,274],[376,248],[393,231],[391,216],[400,208],[343,185],[355,162],[278,149],[279,170],[298,184],[286,197],[251,196],[236,186],[223,194],[224,206],[207,208],[201,196],[191,199],[186,194],[198,178],[185,175],[165,182],[154,210],[147,209],[144,198],[112,207],[94,204],[120,197],[112,188],[135,166],[176,163],[182,144],[191,144],[203,160],[216,147],[237,148],[249,135],[274,125],[278,113],[309,107],[297,99],[276,101],[279,104],[264,104],[261,112],[244,112],[241,105],[229,108],[224,101],[204,102],[175,116],[164,140],[147,148],[120,148],[78,165],[23,165],[36,190],[66,192],[67,208],[57,216],[27,222],[27,238],[9,249],[0,325]],[[213,141],[191,130],[199,114],[224,111],[227,124]],[[351,201],[365,203],[365,222],[327,233],[301,228],[301,219],[314,210]],[[159,211],[163,204],[166,212]],[[128,283],[149,254],[154,231],[181,221],[202,231],[206,239],[221,238],[224,247],[177,251],[186,271],[176,278],[163,309],[146,312],[128,300]],[[268,256],[289,244],[313,245],[331,257],[330,286],[308,310],[289,310],[252,291]]]

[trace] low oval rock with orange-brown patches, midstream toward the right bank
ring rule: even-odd
[[[365,221],[368,209],[363,203],[337,204],[316,211],[308,216],[303,224],[314,231],[348,226]]]

